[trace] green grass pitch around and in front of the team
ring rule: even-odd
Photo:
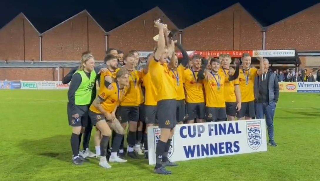
[[[153,174],[147,160],[91,159],[71,165],[66,90],[0,90],[0,180],[320,180],[320,95],[281,93],[277,147],[268,152],[178,162],[172,175]],[[95,131],[92,131],[92,136]],[[93,139],[90,143],[94,151]],[[82,148],[82,146],[81,146]]]

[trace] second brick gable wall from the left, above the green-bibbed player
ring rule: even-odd
[[[81,53],[92,51],[96,60],[105,55],[104,31],[87,12],[45,32],[42,37],[44,61],[80,60]]]

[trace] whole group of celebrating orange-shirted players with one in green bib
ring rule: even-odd
[[[78,70],[71,71],[67,110],[75,165],[94,156],[103,168],[111,168],[108,162],[126,162],[124,135],[128,125],[127,155],[138,159],[137,154],[144,154],[148,159],[147,130],[156,124],[161,136],[156,144],[154,172],[171,174],[166,168],[178,166],[168,160],[176,124],[255,117],[254,81],[257,76],[262,76],[262,81],[263,75],[266,77],[267,59],[258,57],[260,68],[256,69],[250,66],[251,57],[246,53],[241,65],[239,60],[230,65],[229,54],[189,58],[167,26],[159,20],[154,23],[159,30],[157,47],[143,69],[136,69],[136,51],[126,54],[122,68],[118,67],[118,57],[109,52],[106,67],[100,69],[94,67],[92,53],[85,52]],[[175,47],[183,55],[180,64]],[[96,127],[96,154],[88,149],[92,126]],[[84,151],[79,151],[82,133]]]

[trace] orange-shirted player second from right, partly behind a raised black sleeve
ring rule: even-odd
[[[226,102],[226,112],[229,121],[236,120],[237,111],[241,110],[241,92],[239,87],[239,79],[229,81],[229,75],[233,74],[233,68],[230,68],[231,56],[229,54],[221,54],[219,57],[221,61],[220,73],[226,76],[224,85],[224,96]],[[236,62],[236,60],[235,60]]]

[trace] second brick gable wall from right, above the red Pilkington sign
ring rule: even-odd
[[[260,25],[240,5],[235,4],[182,33],[188,50],[248,50],[262,48]]]

